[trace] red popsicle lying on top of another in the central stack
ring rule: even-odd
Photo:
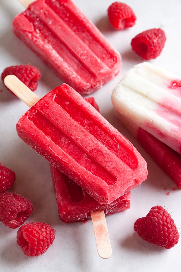
[[[6,77],[6,86],[15,93],[11,79],[19,93],[23,83]],[[113,202],[147,178],[146,162],[135,147],[66,84],[33,105],[18,121],[17,133],[101,204]]]

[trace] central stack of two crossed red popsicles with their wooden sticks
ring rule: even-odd
[[[129,208],[129,191],[147,178],[145,160],[67,84],[40,100],[16,76],[7,76],[5,85],[32,105],[18,121],[17,133],[51,164],[60,218],[73,222],[91,215],[98,253],[103,258],[110,257],[104,212]]]

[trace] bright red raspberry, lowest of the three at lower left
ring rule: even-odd
[[[42,222],[24,224],[17,231],[17,244],[29,257],[43,254],[54,239],[55,231],[52,226]]]

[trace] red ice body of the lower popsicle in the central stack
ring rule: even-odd
[[[67,176],[50,166],[57,207],[63,222],[76,222],[90,219],[90,213],[104,210],[105,215],[122,212],[130,207],[130,192],[110,204],[103,205],[91,198]]]

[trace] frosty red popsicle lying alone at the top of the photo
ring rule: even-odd
[[[13,31],[65,83],[85,95],[119,73],[119,53],[71,0],[28,2]]]

